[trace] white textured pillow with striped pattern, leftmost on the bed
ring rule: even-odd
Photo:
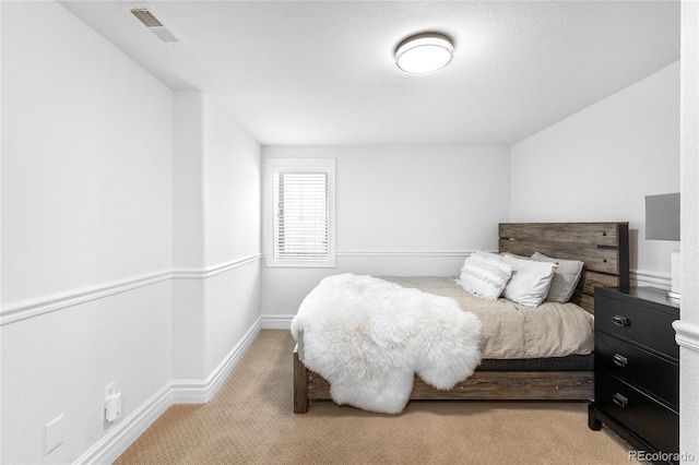
[[[459,284],[476,297],[497,300],[511,275],[511,265],[489,257],[472,254],[463,262]]]

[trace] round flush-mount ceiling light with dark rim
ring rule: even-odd
[[[454,47],[443,34],[424,33],[403,40],[395,49],[395,64],[406,73],[427,74],[451,61]]]

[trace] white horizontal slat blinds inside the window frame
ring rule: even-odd
[[[274,259],[328,260],[329,206],[327,172],[276,172]]]

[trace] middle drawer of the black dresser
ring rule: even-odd
[[[594,339],[597,368],[627,380],[667,402],[679,406],[679,367],[648,350],[597,333]]]

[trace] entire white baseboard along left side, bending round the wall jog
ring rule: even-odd
[[[289,320],[291,323],[291,320]],[[205,404],[218,392],[233,369],[248,351],[260,334],[261,318],[258,318],[242,338],[205,380],[175,380],[118,421],[109,432],[81,455],[74,464],[112,463],[173,404]]]

